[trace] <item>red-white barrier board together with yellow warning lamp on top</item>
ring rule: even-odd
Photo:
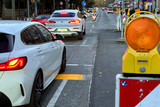
[[[158,17],[147,11],[126,21],[128,48],[122,57],[122,74],[116,76],[115,107],[160,107],[159,29]]]

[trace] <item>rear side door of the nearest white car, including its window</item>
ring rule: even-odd
[[[47,68],[47,50],[46,50],[46,44],[45,40],[41,37],[40,31],[37,29],[37,27],[30,26],[27,29],[25,29],[21,34],[22,42],[26,44],[26,48],[28,48],[28,54],[29,58],[31,58],[30,66],[34,69],[34,71],[28,71],[28,74],[33,74],[33,72],[36,72],[41,68]],[[31,75],[35,76],[35,75]]]

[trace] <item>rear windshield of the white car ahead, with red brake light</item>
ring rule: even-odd
[[[55,12],[52,14],[52,17],[74,17],[75,13],[72,12]]]

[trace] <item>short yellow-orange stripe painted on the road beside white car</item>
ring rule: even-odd
[[[62,80],[82,80],[83,75],[82,74],[58,74],[55,78],[56,80],[62,79]]]

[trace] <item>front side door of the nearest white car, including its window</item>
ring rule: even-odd
[[[41,31],[42,37],[46,40],[47,50],[47,70],[44,70],[45,81],[55,72],[61,65],[62,47],[59,42],[54,41],[52,34],[42,25],[37,25]],[[49,82],[49,80],[48,80]]]

